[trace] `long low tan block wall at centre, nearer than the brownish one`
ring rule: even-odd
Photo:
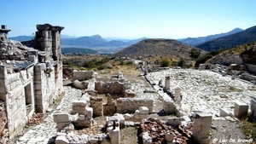
[[[153,111],[153,100],[139,98],[119,98],[116,101],[117,113],[134,113],[139,107],[148,107],[148,111]]]

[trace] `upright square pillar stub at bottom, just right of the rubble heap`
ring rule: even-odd
[[[212,114],[204,112],[196,113],[192,132],[196,141],[201,144],[210,143],[211,124]]]

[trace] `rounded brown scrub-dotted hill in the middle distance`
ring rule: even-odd
[[[189,50],[195,48],[173,39],[145,39],[130,47],[120,50],[114,56],[128,56],[137,58],[139,56],[166,56],[170,58],[184,58],[189,60]],[[201,50],[202,53],[205,51]]]

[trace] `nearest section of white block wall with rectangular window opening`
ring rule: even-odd
[[[7,74],[6,66],[0,66],[1,100],[5,101],[9,137],[12,138],[32,117],[34,110],[33,66],[27,70]]]

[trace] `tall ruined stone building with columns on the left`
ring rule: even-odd
[[[22,131],[34,112],[46,112],[63,89],[60,42],[64,27],[44,24],[37,29],[29,42],[32,47],[9,40],[7,26],[0,29],[0,107],[1,112],[5,107],[10,138]]]

